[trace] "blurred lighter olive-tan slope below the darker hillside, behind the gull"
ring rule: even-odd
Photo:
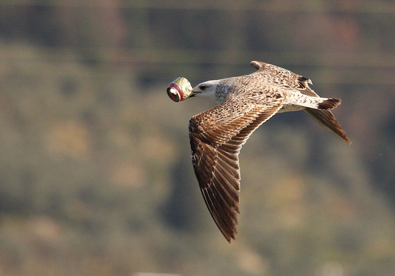
[[[1,68],[2,274],[395,268],[394,214],[340,140],[325,133],[315,152],[304,127],[276,120],[254,133],[240,154],[240,234],[229,247],[189,157],[188,119],[212,103],[175,104],[166,83],[139,88],[127,68],[52,62],[31,46],[1,51],[40,61]],[[318,172],[306,165],[316,155]]]

